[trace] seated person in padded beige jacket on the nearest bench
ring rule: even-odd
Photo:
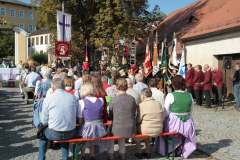
[[[137,131],[140,134],[146,134],[150,137],[158,137],[162,133],[163,121],[165,119],[164,110],[158,101],[152,98],[152,91],[144,88],[141,91],[142,103],[140,103],[137,114]],[[134,138],[137,145],[137,153],[135,156],[139,159],[142,156],[150,158],[149,139],[151,138]],[[145,142],[145,152],[141,152],[140,142]]]

